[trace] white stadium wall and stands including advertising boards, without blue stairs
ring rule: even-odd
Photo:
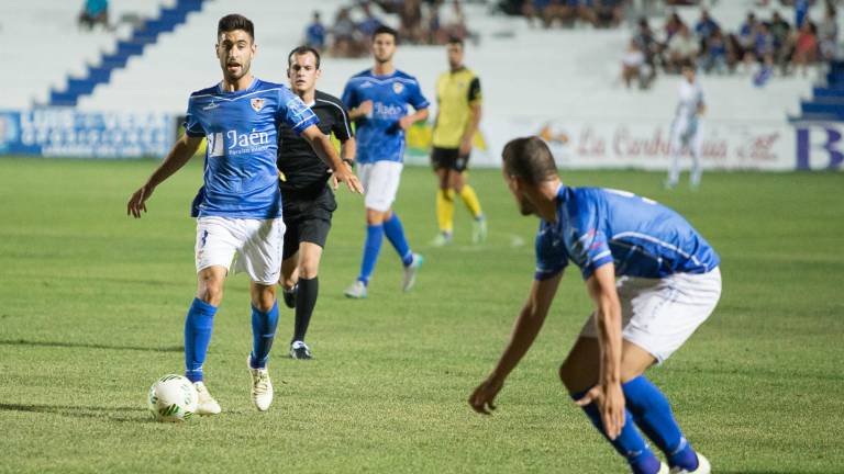
[[[40,18],[36,10],[44,10],[47,3],[52,4],[47,0],[33,0],[18,5],[21,10],[14,14],[24,20]],[[121,9],[133,4],[129,0],[113,0],[113,3]],[[153,5],[169,3],[171,0],[149,2]],[[256,76],[284,82],[287,54],[300,43],[312,10],[321,10],[323,19],[330,23],[336,8],[344,3],[330,0],[302,9],[301,3],[295,1],[238,1],[237,12],[253,18],[256,24],[258,55],[253,64]],[[722,26],[735,30],[749,8],[754,8],[759,16],[768,15],[765,9],[754,4],[754,0],[718,2],[711,10]],[[469,3],[466,8],[469,27],[480,38],[479,44],[467,45],[466,61],[479,74],[484,89],[482,138],[473,155],[475,166],[499,166],[503,145],[524,135],[543,136],[560,167],[656,170],[668,166],[668,134],[680,79],[659,76],[649,90],[625,89],[620,80],[620,58],[632,34],[629,27],[544,31],[532,29],[520,19],[490,14],[482,4]],[[75,9],[51,12],[46,16],[47,24],[52,29],[75,27],[66,19],[67,15],[75,19]],[[33,150],[86,150],[102,143],[85,142],[88,137],[108,138],[113,145],[132,143],[138,136],[136,128],[112,126],[133,123],[112,120],[116,115],[135,117],[134,123],[143,123],[146,117],[160,124],[160,114],[176,117],[184,113],[191,91],[219,80],[219,65],[212,50],[213,35],[218,19],[231,9],[230,2],[206,2],[202,11],[191,13],[185,24],[163,34],[142,56],[131,58],[125,68],[115,70],[108,83],[84,97],[74,112],[74,120],[67,119],[67,112],[34,112],[27,106],[33,101],[42,102],[49,87],[60,82],[56,76],[75,74],[86,63],[95,60],[91,59],[92,48],[101,47],[108,52],[116,38],[126,37],[126,32],[121,30],[113,33],[111,40],[103,40],[101,35],[92,38],[90,34],[74,31],[63,45],[54,46],[58,48],[56,52],[62,52],[62,59],[55,61],[48,74],[44,69],[51,66],[49,61],[36,64],[29,57],[33,59],[29,67],[33,71],[32,80],[4,84],[14,93],[0,98],[0,154],[13,153],[9,147],[4,151],[2,144],[3,136],[12,132],[25,134]],[[698,10],[686,8],[680,14],[693,23]],[[820,15],[818,7],[812,15]],[[397,23],[396,18],[387,20]],[[652,19],[652,22],[659,26],[663,19]],[[25,31],[3,25],[0,40],[7,34]],[[42,38],[41,42],[55,43],[45,40],[49,35],[44,32],[37,33],[33,36]],[[9,64],[29,60],[11,55],[13,52],[0,52],[0,59],[8,59]],[[319,87],[340,95],[347,78],[370,65],[369,58],[325,57]],[[434,102],[434,82],[446,67],[442,47],[401,46],[396,65],[415,76],[424,94]],[[708,105],[704,167],[771,171],[840,169],[844,125],[792,124],[788,121],[789,115],[798,114],[800,100],[811,95],[812,84],[822,74],[822,70],[813,69],[806,77],[777,76],[764,88],[753,86],[749,71],[701,77]],[[435,108],[432,112],[435,113]],[[65,120],[44,120],[51,114]],[[96,133],[87,133],[86,124],[98,124]],[[111,134],[121,137],[112,138]],[[426,162],[425,136],[425,133],[414,135],[409,162]],[[33,137],[46,142],[33,144]],[[143,153],[125,155],[149,155],[149,150],[160,146],[160,140],[154,147],[136,146],[131,149]]]

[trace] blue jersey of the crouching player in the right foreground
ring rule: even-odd
[[[617,275],[659,279],[706,273],[718,253],[678,213],[625,191],[569,188],[557,191],[557,219],[536,235],[536,274],[558,274],[571,260],[584,280],[613,262]]]

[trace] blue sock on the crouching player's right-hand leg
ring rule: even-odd
[[[686,471],[698,469],[698,455],[682,437],[668,398],[644,375],[623,384],[626,405],[636,425],[668,459],[668,464]]]

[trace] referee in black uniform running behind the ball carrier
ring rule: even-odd
[[[308,104],[320,119],[318,126],[325,135],[332,133],[341,143],[340,156],[352,167],[355,138],[343,102],[316,90],[320,77],[320,53],[300,46],[287,58],[290,89]],[[308,142],[287,125],[278,129],[278,171],[281,187],[285,232],[281,286],[288,307],[296,308],[296,325],[290,343],[290,357],[311,359],[304,335],[316,305],[322,249],[331,229],[331,215],[337,204],[327,181],[331,171],[313,153]],[[333,181],[333,179],[332,179]],[[336,183],[333,183],[336,187]]]

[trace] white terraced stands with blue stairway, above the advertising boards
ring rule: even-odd
[[[193,3],[200,0],[190,0]],[[154,8],[151,4],[154,3]],[[112,0],[112,19],[121,10],[143,9],[147,18],[157,18],[158,11],[174,11],[177,0],[132,2]],[[299,2],[242,0],[236,10],[255,20],[258,55],[254,71],[275,81],[285,80],[286,55],[301,41],[313,9],[321,10],[330,23],[336,9],[347,2],[326,0],[318,7]],[[753,0],[718,2],[711,9],[723,27],[735,30]],[[68,92],[88,92],[79,97],[81,110],[167,111],[180,113],[192,90],[208,87],[220,77],[212,45],[216,20],[232,12],[224,2],[204,2],[202,10],[173,27],[152,21],[146,32],[118,29],[114,33],[79,33],[76,29],[76,2],[31,0],[4,20],[0,35],[31,29],[27,37],[40,37],[30,50],[0,53],[11,64],[22,64],[25,77],[12,78],[12,99],[3,99],[4,108],[26,108],[46,103],[52,89]],[[575,29],[544,31],[532,29],[520,18],[497,15],[486,5],[466,5],[468,25],[479,34],[479,46],[469,45],[467,63],[481,75],[487,117],[567,117],[669,121],[676,103],[678,77],[660,76],[648,91],[629,91],[620,81],[620,56],[631,36],[631,30]],[[770,9],[755,10],[767,16]],[[693,23],[697,8],[680,8],[679,13]],[[818,15],[818,13],[813,13]],[[167,15],[167,13],[165,13]],[[844,16],[844,15],[842,15]],[[387,19],[396,24],[397,19]],[[178,23],[178,22],[177,22]],[[654,19],[655,25],[662,23]],[[63,31],[63,41],[55,42],[51,34]],[[67,41],[65,41],[65,36]],[[142,55],[132,55],[143,50]],[[104,53],[103,53],[104,52]],[[48,57],[49,60],[45,60]],[[106,59],[101,61],[101,59]],[[93,65],[93,66],[89,66]],[[326,58],[321,89],[340,94],[346,79],[369,67],[370,59]],[[403,47],[397,57],[398,67],[415,75],[424,93],[433,99],[436,76],[445,68],[442,48]],[[109,66],[125,66],[109,69]],[[766,87],[753,86],[749,76],[707,76],[703,80],[708,93],[708,116],[724,121],[782,121],[798,114],[801,98],[812,91],[818,70],[808,78],[776,77]],[[840,78],[841,70],[832,77]],[[63,77],[70,77],[69,81]],[[78,78],[87,78],[80,81]],[[10,79],[4,79],[10,80]],[[829,92],[828,92],[829,90]],[[824,102],[837,101],[831,86],[818,94],[820,102],[811,108],[824,109]],[[824,95],[832,94],[832,95]],[[55,103],[70,99],[55,94]],[[68,102],[69,103],[69,102]],[[742,106],[736,108],[735,104]],[[837,105],[836,105],[837,106]]]

